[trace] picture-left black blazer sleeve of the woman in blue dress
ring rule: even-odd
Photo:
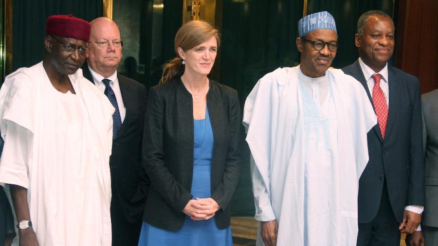
[[[183,211],[192,194],[164,165],[164,100],[150,88],[143,135],[143,165],[151,185],[177,211]]]

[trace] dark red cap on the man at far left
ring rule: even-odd
[[[47,35],[72,37],[88,41],[90,39],[90,22],[70,15],[49,16],[46,20]]]

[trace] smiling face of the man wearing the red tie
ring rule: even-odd
[[[390,18],[368,17],[363,35],[355,35],[362,61],[375,72],[381,71],[394,52],[394,26]]]

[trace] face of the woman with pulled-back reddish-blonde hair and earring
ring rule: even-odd
[[[194,48],[184,51],[178,47],[180,57],[185,60],[184,74],[190,77],[206,77],[215,63],[218,52],[218,41],[212,36]]]

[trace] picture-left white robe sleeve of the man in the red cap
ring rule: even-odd
[[[29,188],[29,156],[32,153],[32,83],[21,69],[6,77],[0,90],[0,131],[4,140],[0,158],[0,183]]]

